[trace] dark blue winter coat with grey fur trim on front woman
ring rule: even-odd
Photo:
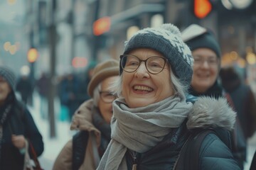
[[[205,106],[205,107],[201,107]],[[219,106],[219,108],[216,108]],[[162,142],[143,154],[126,152],[127,168],[137,164],[139,169],[174,169],[181,147],[193,130],[220,128],[228,133],[233,127],[233,113],[229,113],[227,103],[213,103],[209,98],[196,101],[193,113],[181,127],[175,128]],[[188,130],[189,129],[189,130]],[[226,136],[229,137],[229,136]],[[227,145],[215,134],[208,134],[203,140],[199,154],[200,169],[240,169]]]

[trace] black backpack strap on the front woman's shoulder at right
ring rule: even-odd
[[[174,169],[199,169],[200,148],[204,138],[209,133],[215,132],[213,130],[201,130],[200,132],[193,132],[188,137],[188,140],[186,140],[181,148],[176,164],[174,165]]]

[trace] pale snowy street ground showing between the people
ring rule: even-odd
[[[43,135],[43,141],[45,144],[45,150],[41,157],[39,157],[39,161],[41,162],[41,166],[43,169],[51,170],[53,168],[53,163],[55,158],[58,156],[60,149],[65,145],[68,140],[71,139],[74,132],[70,131],[70,123],[68,122],[61,122],[58,120],[58,115],[55,115],[56,118],[56,137],[50,139],[50,129],[49,123],[47,120],[42,120],[40,116],[40,98],[37,93],[34,93],[34,102],[33,107],[30,107],[31,114],[40,130],[41,134]],[[59,106],[58,100],[55,103],[56,113],[58,113]],[[247,148],[247,163],[245,164],[245,170],[250,169],[250,162],[252,160],[253,154],[256,150],[256,134],[248,141],[248,148]]]

